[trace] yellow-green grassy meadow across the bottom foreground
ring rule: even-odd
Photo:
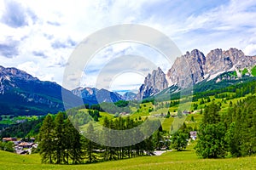
[[[191,147],[189,147],[191,148]],[[161,156],[144,156],[121,161],[85,165],[41,164],[40,156],[20,156],[0,151],[0,169],[256,169],[256,156],[226,159],[200,159],[195,150],[170,151]]]

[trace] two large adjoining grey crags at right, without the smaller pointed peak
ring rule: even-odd
[[[166,77],[168,82],[188,88],[204,79],[217,77],[225,71],[237,71],[253,65],[256,65],[256,57],[246,56],[236,48],[227,51],[217,48],[210,51],[207,57],[195,49],[190,54],[187,52],[177,58]]]

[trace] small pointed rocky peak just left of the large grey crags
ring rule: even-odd
[[[145,77],[143,85],[139,88],[137,99],[144,99],[153,94],[157,94],[163,89],[168,88],[166,74],[158,67]]]

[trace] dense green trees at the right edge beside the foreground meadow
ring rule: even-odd
[[[230,106],[222,115],[218,113],[219,105],[212,103],[206,107],[195,147],[199,156],[218,158],[229,153],[231,156],[256,154],[256,97]]]

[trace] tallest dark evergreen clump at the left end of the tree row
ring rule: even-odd
[[[81,135],[62,112],[45,117],[39,132],[39,151],[42,162],[74,164],[82,162]]]

